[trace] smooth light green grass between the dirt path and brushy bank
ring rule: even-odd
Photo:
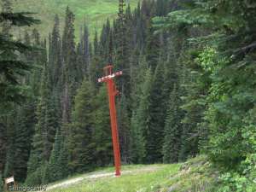
[[[53,189],[50,192],[133,192],[156,191],[170,177],[177,174],[180,165],[124,166],[121,177],[99,177],[84,179],[83,182],[64,189]],[[125,172],[129,171],[129,172]],[[107,168],[104,172],[113,172]],[[91,173],[90,173],[91,174]]]

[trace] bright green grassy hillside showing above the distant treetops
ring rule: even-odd
[[[139,0],[130,0],[131,7],[134,8]],[[118,0],[22,0],[15,3],[15,10],[30,11],[38,13],[36,16],[42,20],[38,26],[44,37],[50,32],[55,14],[61,17],[63,25],[65,10],[69,6],[76,15],[75,27],[76,36],[79,37],[80,26],[84,22],[90,27],[90,33],[101,29],[102,23],[109,19],[114,19],[118,11]]]

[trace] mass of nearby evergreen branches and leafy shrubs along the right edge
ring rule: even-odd
[[[195,0],[189,2],[189,9],[174,11],[164,21],[171,31],[190,27],[194,44],[187,58],[191,81],[186,82],[188,95],[183,97],[187,112],[183,137],[190,135],[186,143],[193,145],[199,140],[201,151],[212,162],[230,170],[223,176],[225,186],[220,191],[253,189],[253,169],[248,166],[255,155],[251,143],[255,141],[251,119],[255,108],[253,11],[252,1]],[[182,154],[195,153],[196,148],[187,146]]]

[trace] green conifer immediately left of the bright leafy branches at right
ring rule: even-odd
[[[191,50],[189,55],[198,56],[196,50]],[[204,101],[207,95],[208,85],[211,82],[208,73],[204,73],[202,68],[196,61],[188,61],[189,82],[185,83],[188,94],[183,96],[183,110],[185,115],[183,118],[183,138],[180,159],[186,160],[188,157],[195,156],[201,149],[207,148],[207,124],[204,122],[203,116],[207,107]]]

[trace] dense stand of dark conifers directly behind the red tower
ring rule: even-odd
[[[26,46],[15,43],[15,49],[24,49],[22,59],[36,66],[24,79],[24,84],[32,88],[32,98],[27,101],[32,108],[22,105],[19,121],[11,119],[19,124],[15,127],[15,146],[18,147],[14,151],[15,158],[20,155],[21,159],[14,166],[20,181],[26,177],[26,169],[26,183],[40,184],[112,163],[107,92],[96,82],[108,62],[113,62],[114,70],[124,71],[117,80],[121,95],[117,96],[116,103],[122,161],[155,163],[162,160],[166,101],[173,84],[178,83],[177,73],[182,70],[176,69],[180,66],[172,60],[171,57],[176,57],[174,54],[166,55],[169,34],[155,33],[151,19],[155,15],[166,15],[171,8],[167,1],[161,0],[143,1],[134,11],[129,5],[126,8],[121,2],[118,20],[114,20],[113,25],[107,20],[101,34],[95,34],[93,46],[86,25],[76,44],[74,15],[69,8],[62,37],[60,19],[55,16],[49,46],[41,41],[37,30],[25,33]],[[31,54],[27,49],[30,45],[39,49],[33,49]],[[178,45],[171,49],[177,50]],[[49,48],[48,55],[46,48]],[[88,80],[81,85],[82,79]],[[36,106],[35,117],[32,113]],[[30,142],[25,143],[26,140]],[[6,159],[6,149],[3,149]],[[9,154],[5,169],[12,172],[14,157]],[[23,165],[28,154],[26,168]],[[5,165],[5,160],[1,163]]]

